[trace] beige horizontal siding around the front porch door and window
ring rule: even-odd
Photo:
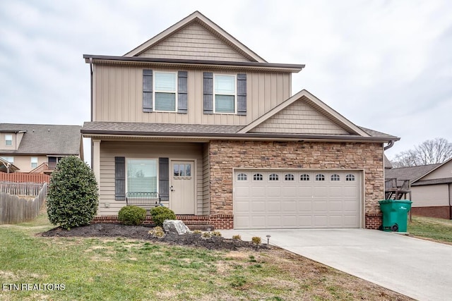
[[[115,200],[114,194],[114,158],[124,156],[127,159],[196,160],[195,214],[203,215],[203,145],[201,143],[182,142],[100,142],[100,199],[97,215],[117,215],[126,201]],[[171,177],[171,175],[169,175]],[[108,203],[109,207],[105,204]],[[168,202],[162,202],[168,207]]]

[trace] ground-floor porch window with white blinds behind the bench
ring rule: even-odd
[[[127,159],[127,192],[157,192],[157,159]]]

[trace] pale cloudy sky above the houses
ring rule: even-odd
[[[123,55],[194,11],[270,63],[306,64],[292,92],[401,137],[390,159],[434,137],[452,142],[448,0],[0,0],[0,122],[89,121],[83,54]]]

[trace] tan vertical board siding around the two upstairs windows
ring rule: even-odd
[[[180,69],[149,68],[177,72]],[[246,73],[246,116],[203,113],[203,72],[237,75],[243,70],[187,70],[187,113],[143,112],[143,67],[96,65],[93,121],[247,125],[291,96],[291,73]]]

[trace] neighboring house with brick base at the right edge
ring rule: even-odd
[[[443,164],[388,169],[385,178],[410,181],[412,214],[452,218],[452,158]]]

